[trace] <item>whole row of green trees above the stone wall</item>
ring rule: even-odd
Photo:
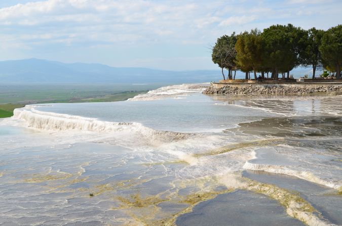
[[[222,70],[228,70],[227,79],[235,79],[236,71],[266,73],[271,78],[289,78],[290,71],[298,66],[311,66],[312,77],[318,68],[334,72],[340,78],[342,69],[342,25],[327,31],[309,30],[288,25],[273,25],[261,32],[253,29],[238,35],[219,37],[212,48],[212,61]],[[234,72],[234,75],[233,75]]]

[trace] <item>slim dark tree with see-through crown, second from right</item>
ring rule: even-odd
[[[302,51],[299,53],[300,63],[303,66],[312,66],[312,78],[315,78],[316,69],[322,67],[322,57],[319,51],[323,30],[317,30],[315,27],[309,29],[302,36],[301,43],[303,45]]]

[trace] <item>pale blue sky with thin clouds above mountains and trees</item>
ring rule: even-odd
[[[342,1],[0,0],[0,61],[217,69],[210,53],[217,37],[288,23],[342,24]]]

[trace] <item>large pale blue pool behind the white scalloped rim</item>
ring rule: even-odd
[[[222,128],[235,127],[242,121],[254,121],[272,115],[262,110],[245,110],[245,117],[242,118],[241,108],[216,103],[220,102],[197,93],[184,99],[53,104],[37,110],[92,117],[101,121],[139,122],[154,129],[183,132],[222,131]]]

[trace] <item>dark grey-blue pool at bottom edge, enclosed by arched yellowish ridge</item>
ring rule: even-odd
[[[179,226],[305,225],[289,217],[284,207],[267,196],[247,191],[218,195],[177,218]]]

